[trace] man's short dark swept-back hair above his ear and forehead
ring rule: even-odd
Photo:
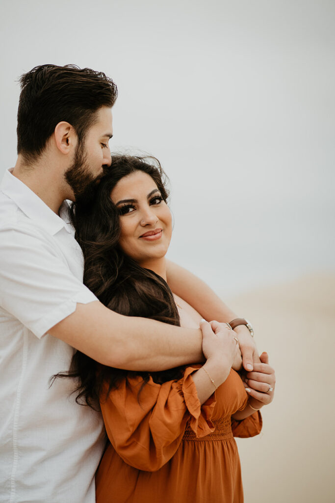
[[[101,107],[113,107],[118,89],[104,73],[75,65],[35,66],[21,76],[18,154],[32,162],[44,150],[56,125],[66,121],[81,142]]]

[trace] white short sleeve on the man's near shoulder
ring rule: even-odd
[[[0,229],[0,304],[38,338],[74,312],[78,302],[97,300],[73,275],[54,241],[22,223]]]

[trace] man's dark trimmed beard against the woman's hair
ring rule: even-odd
[[[65,180],[71,187],[74,200],[90,200],[102,175],[94,177],[89,170],[84,142],[78,143],[72,165],[65,172]]]

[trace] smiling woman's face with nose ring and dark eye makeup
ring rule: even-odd
[[[150,175],[142,171],[127,175],[110,197],[120,210],[119,244],[124,253],[142,266],[164,257],[172,233],[171,212]]]

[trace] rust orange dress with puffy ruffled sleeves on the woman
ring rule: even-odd
[[[162,385],[129,376],[101,410],[110,441],[96,474],[96,503],[242,503],[236,437],[260,433],[255,412],[244,421],[248,396],[240,376],[226,381],[201,406],[192,372]]]

